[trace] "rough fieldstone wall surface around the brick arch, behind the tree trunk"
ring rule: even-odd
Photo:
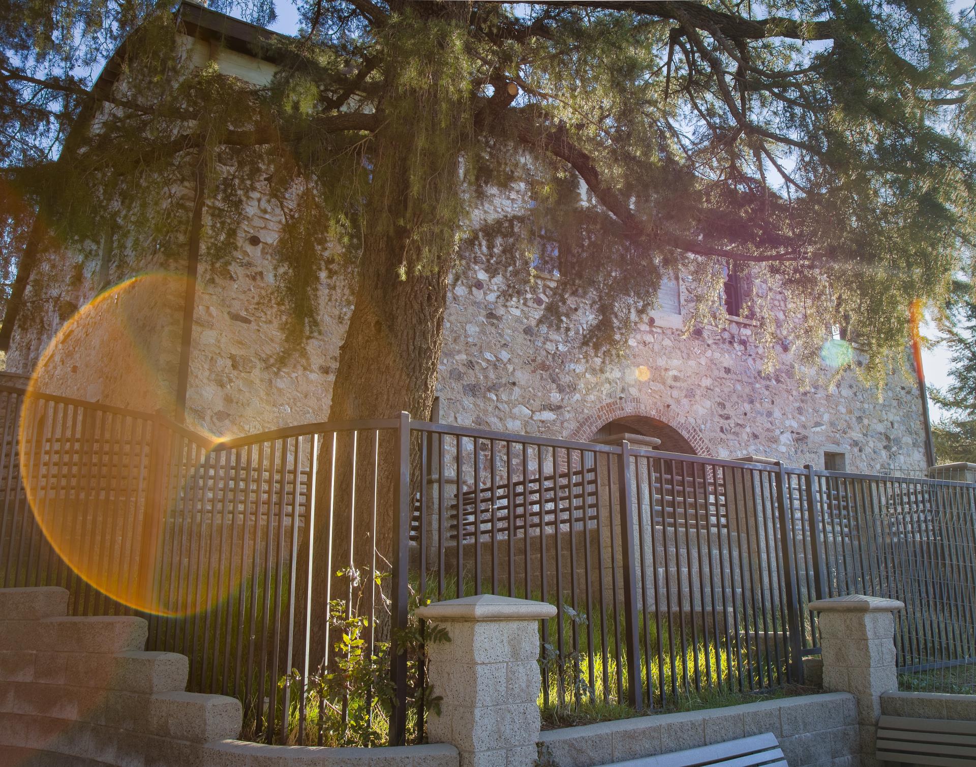
[[[278,231],[276,213],[256,192],[239,252],[228,263],[201,268],[187,409],[190,423],[202,431],[231,437],[328,417],[351,312],[346,279],[323,277],[322,332],[300,352],[290,352],[285,314],[274,300]],[[477,269],[454,285],[437,385],[442,421],[589,440],[603,424],[630,417],[645,430],[670,426],[696,452],[715,457],[765,455],[823,466],[830,450],[846,453],[852,471],[924,465],[917,386],[901,373],[892,374],[878,395],[853,372],[829,389],[832,370],[825,365],[808,371],[812,383],[804,389],[784,349],[773,372],[761,372],[750,322],[733,320],[725,329],[685,335],[680,317],[660,314],[636,327],[625,359],[603,360],[582,347],[579,328],[563,333],[540,322],[551,284],[538,280],[533,292],[510,303],[501,301],[501,286]],[[174,387],[182,304],[159,295],[146,301],[151,321],[125,326],[137,349],[159,355],[149,370],[155,382]],[[100,311],[114,306],[105,302]],[[132,308],[125,311],[135,316]],[[64,343],[75,351],[61,353],[58,372],[44,376],[55,393],[139,405],[124,385],[128,371],[139,367],[125,360],[113,364],[110,339],[73,334]],[[42,348],[30,333],[16,333],[8,369],[30,372]],[[106,385],[113,369],[123,372]]]

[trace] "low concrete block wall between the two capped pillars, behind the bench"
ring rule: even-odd
[[[768,732],[790,767],[860,766],[857,710],[846,693],[549,730],[540,736],[540,756],[547,765],[594,767]]]

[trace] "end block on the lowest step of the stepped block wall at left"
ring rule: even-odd
[[[150,732],[190,743],[236,738],[242,716],[240,701],[223,695],[170,692],[149,699]]]

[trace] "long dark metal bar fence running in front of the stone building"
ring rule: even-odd
[[[247,737],[423,738],[412,605],[549,601],[543,704],[803,681],[815,598],[904,601],[908,673],[973,657],[976,486],[399,418],[213,443],[161,416],[0,388],[2,585],[149,621]]]

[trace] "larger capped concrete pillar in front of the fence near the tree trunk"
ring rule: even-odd
[[[491,594],[434,602],[418,618],[442,625],[449,642],[430,642],[428,679],[441,696],[427,717],[430,743],[461,753],[461,767],[530,767],[540,715],[539,623],[555,606]]]

